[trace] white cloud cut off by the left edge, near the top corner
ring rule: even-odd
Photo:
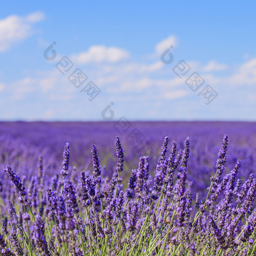
[[[11,15],[0,20],[0,52],[5,52],[12,45],[25,40],[33,31],[33,23],[44,19],[42,12],[34,12],[25,17]]]

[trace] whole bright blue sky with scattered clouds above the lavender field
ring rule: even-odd
[[[256,121],[255,12],[254,1],[4,2],[0,120]],[[76,71],[87,79],[74,86]]]

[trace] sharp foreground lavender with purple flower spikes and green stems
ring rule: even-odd
[[[237,178],[240,160],[224,174],[227,138],[224,135],[206,197],[199,193],[194,197],[191,191],[189,138],[177,153],[173,142],[168,155],[169,138],[165,137],[154,177],[149,171],[150,156],[142,156],[127,184],[121,178],[126,161],[118,136],[114,177],[104,175],[95,144],[93,172],[76,168],[68,172],[67,143],[60,175],[46,189],[49,177],[42,156],[38,177],[31,177],[30,182],[7,166],[4,172],[14,186],[8,192],[0,189],[4,208],[0,254],[256,255],[256,178],[252,173],[242,184]]]

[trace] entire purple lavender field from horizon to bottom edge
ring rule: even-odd
[[[256,255],[256,123],[1,122],[0,153],[1,255]]]

